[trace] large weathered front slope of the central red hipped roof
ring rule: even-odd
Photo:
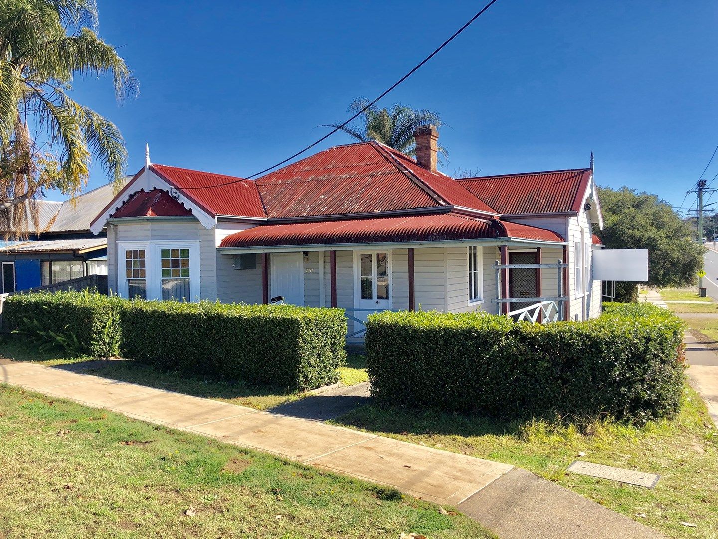
[[[269,217],[441,206],[374,142],[335,146],[256,180]]]

